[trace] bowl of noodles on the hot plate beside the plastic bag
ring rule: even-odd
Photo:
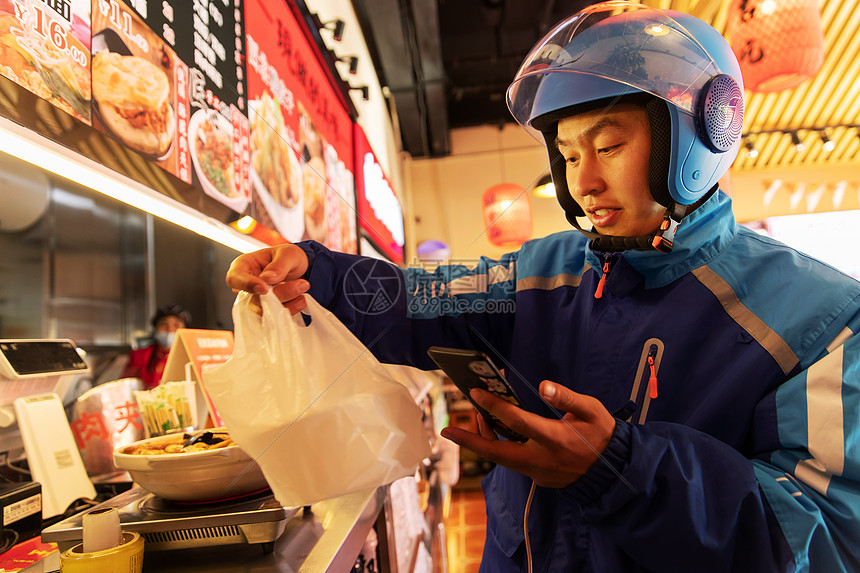
[[[189,438],[197,440],[183,446]],[[164,499],[218,500],[269,487],[260,466],[225,428],[148,438],[114,450],[114,465]]]

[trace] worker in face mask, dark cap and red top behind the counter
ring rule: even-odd
[[[122,377],[140,378],[146,390],[158,386],[176,331],[188,328],[190,323],[191,315],[181,306],[171,304],[159,307],[152,317],[153,344],[131,351]]]

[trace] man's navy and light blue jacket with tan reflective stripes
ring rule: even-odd
[[[302,246],[311,294],[380,360],[478,348],[534,412],[558,415],[547,379],[616,415],[585,476],[537,488],[535,572],[860,571],[860,283],[737,226],[722,193],[675,239],[607,255],[570,231],[432,273]],[[484,480],[481,571],[525,570],[530,486]]]

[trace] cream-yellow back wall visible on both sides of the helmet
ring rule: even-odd
[[[546,173],[548,159],[542,144],[517,124],[454,130],[452,153],[441,159],[407,159],[407,187],[413,211],[407,217],[414,231],[407,235],[420,244],[441,240],[453,259],[481,255],[497,258],[508,249],[487,240],[481,218],[481,195],[490,186],[512,182],[531,189]],[[782,181],[774,191],[774,181]],[[841,182],[841,183],[840,183]],[[730,172],[727,189],[740,222],[776,215],[860,209],[860,167],[793,168],[779,171]],[[768,193],[768,190],[771,190]],[[840,191],[841,189],[841,191]],[[533,238],[572,227],[555,199],[531,197]]]

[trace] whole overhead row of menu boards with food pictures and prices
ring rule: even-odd
[[[0,0],[0,74],[176,200],[357,252],[352,117],[293,1]]]

